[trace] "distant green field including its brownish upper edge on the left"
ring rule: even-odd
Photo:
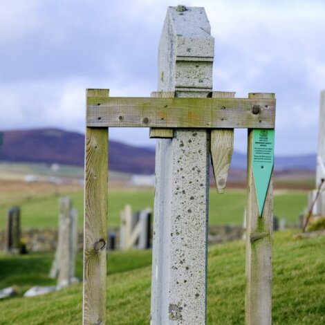
[[[0,229],[6,225],[6,213],[10,206],[21,207],[23,228],[56,228],[59,196],[69,195],[83,223],[83,189],[77,185],[45,183],[21,183],[0,181]],[[245,190],[227,189],[217,194],[210,189],[210,225],[241,225],[245,208]],[[154,189],[115,187],[109,190],[109,228],[120,225],[120,211],[131,204],[133,211],[154,205]],[[285,218],[289,224],[297,224],[298,215],[307,204],[306,191],[275,191],[275,216]]]

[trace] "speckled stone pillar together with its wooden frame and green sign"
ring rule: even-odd
[[[84,324],[106,317],[109,127],[151,127],[156,194],[151,324],[205,324],[211,152],[218,192],[233,129],[248,129],[246,324],[271,324],[272,168],[275,95],[212,91],[214,39],[203,8],[169,7],[160,39],[158,92],[109,97],[87,91]],[[221,324],[222,324],[221,319]]]

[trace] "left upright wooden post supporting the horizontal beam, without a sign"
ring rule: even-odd
[[[88,97],[109,91],[88,89]],[[108,129],[86,127],[83,324],[106,322]]]

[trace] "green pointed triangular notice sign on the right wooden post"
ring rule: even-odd
[[[252,168],[259,205],[259,216],[262,215],[268,185],[274,163],[275,130],[254,129]]]

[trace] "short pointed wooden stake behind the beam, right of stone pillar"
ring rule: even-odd
[[[212,91],[212,98],[230,98],[234,95],[226,91]],[[225,192],[233,151],[234,129],[211,130],[210,154],[218,193]]]

